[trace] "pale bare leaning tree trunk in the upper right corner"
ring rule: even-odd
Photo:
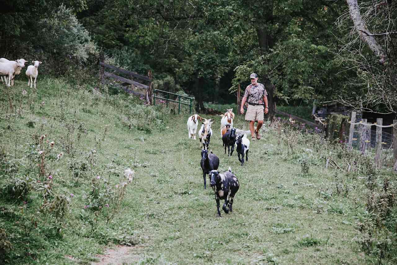
[[[374,36],[371,35],[365,22],[362,20],[360,9],[357,0],[346,0],[349,6],[350,17],[353,20],[354,26],[360,35],[361,39],[368,44],[369,48],[380,58],[379,63],[383,64],[387,58],[382,46],[378,44]]]

